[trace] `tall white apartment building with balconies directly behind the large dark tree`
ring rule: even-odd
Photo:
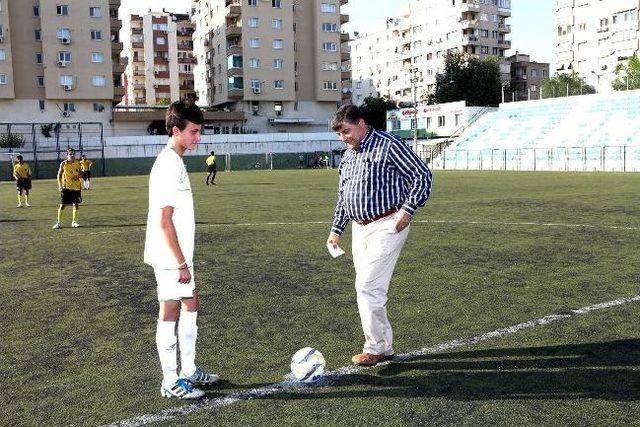
[[[511,0],[411,0],[411,58],[405,69],[420,70],[419,98],[435,89],[435,77],[447,52],[500,61],[501,80],[508,83],[511,68],[504,59],[511,48]]]

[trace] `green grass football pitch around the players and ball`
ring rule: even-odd
[[[390,288],[398,353],[640,293],[640,174],[434,176]],[[197,362],[225,380],[208,397],[281,381],[304,346],[348,366],[362,333],[350,233],[345,256],[325,247],[336,172],[204,178],[191,174]],[[147,179],[95,178],[82,228],[68,210],[57,231],[54,181],[34,182],[28,209],[0,184],[0,425],[101,425],[189,404],[159,393]],[[625,304],[159,425],[633,425],[639,324],[639,303]]]

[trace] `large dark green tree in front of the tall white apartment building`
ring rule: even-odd
[[[498,105],[502,96],[496,58],[480,59],[454,51],[445,56],[444,72],[436,75],[429,104],[466,101],[469,106]]]

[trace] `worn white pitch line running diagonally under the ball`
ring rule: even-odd
[[[377,366],[379,367],[389,363],[397,363],[401,361],[410,361],[412,359],[415,359],[421,356],[426,356],[428,354],[439,353],[439,352],[453,350],[460,347],[471,346],[489,339],[500,338],[506,335],[515,334],[516,332],[522,331],[524,329],[529,329],[536,326],[545,326],[550,323],[557,322],[559,320],[565,320],[578,315],[587,314],[592,311],[604,310],[607,308],[616,307],[616,306],[620,306],[620,305],[624,305],[624,304],[628,304],[636,301],[640,301],[640,295],[627,297],[627,298],[618,298],[613,301],[607,301],[600,304],[589,305],[576,310],[570,310],[567,313],[563,313],[563,314],[550,314],[548,316],[544,316],[534,320],[529,320],[528,322],[524,322],[524,323],[518,323],[517,325],[509,326],[506,328],[496,329],[494,331],[486,332],[484,334],[476,335],[474,337],[454,339],[445,343],[436,344],[434,346],[424,347],[420,350],[399,354],[396,356],[393,362],[384,362],[384,363],[378,364]],[[175,417],[191,414],[194,412],[205,411],[205,410],[215,410],[225,406],[233,405],[234,403],[241,402],[241,401],[251,400],[255,398],[260,398],[260,397],[265,397],[265,396],[270,396],[270,395],[280,394],[280,393],[290,393],[290,392],[297,392],[300,390],[311,390],[317,387],[326,387],[326,386],[330,386],[331,383],[333,383],[334,381],[336,381],[342,376],[350,375],[350,374],[364,371],[367,369],[371,369],[371,368],[366,368],[361,366],[345,366],[342,368],[338,368],[334,371],[328,371],[325,373],[324,379],[320,381],[320,383],[317,385],[305,385],[299,382],[285,379],[284,381],[281,381],[279,383],[274,383],[268,386],[255,388],[253,390],[236,392],[224,397],[203,399],[203,400],[197,401],[196,403],[192,403],[186,406],[169,408],[155,414],[146,414],[139,417],[130,418],[128,420],[118,421],[113,424],[109,424],[108,427],[144,426],[151,423],[167,421]]]

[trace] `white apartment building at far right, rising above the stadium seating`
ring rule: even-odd
[[[556,0],[556,71],[611,91],[616,66],[638,54],[639,8],[638,0]]]

